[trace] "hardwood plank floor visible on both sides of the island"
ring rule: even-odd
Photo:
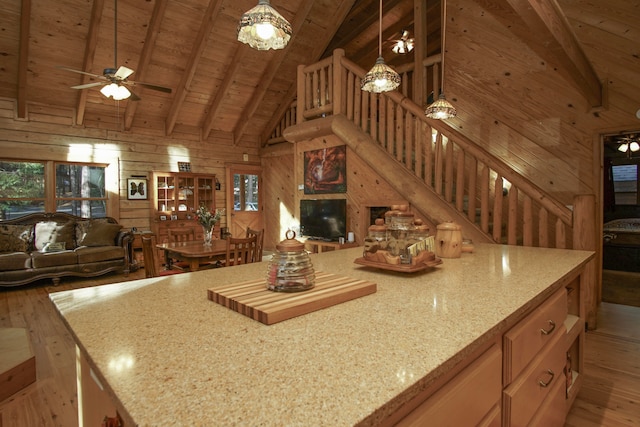
[[[0,427],[75,427],[77,396],[74,343],[50,292],[127,279],[108,275],[16,289],[0,289],[0,327],[24,327],[36,354],[37,381],[0,402]],[[586,337],[585,380],[565,427],[640,425],[640,307],[602,303],[598,329]]]

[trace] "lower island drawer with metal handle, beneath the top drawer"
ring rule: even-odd
[[[528,425],[542,402],[556,390],[556,383],[565,383],[562,369],[566,353],[561,348],[564,325],[560,326],[550,345],[505,389],[502,405],[505,427]]]

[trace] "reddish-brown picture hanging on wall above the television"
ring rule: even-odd
[[[346,145],[304,152],[304,194],[346,192]]]

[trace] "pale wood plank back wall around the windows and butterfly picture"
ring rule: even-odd
[[[148,128],[120,132],[117,123],[75,126],[72,110],[50,106],[29,104],[28,121],[16,120],[15,108],[14,100],[0,99],[0,157],[115,164],[119,179],[108,182],[107,191],[117,193],[112,216],[124,227],[150,229],[150,200],[127,200],[126,180],[132,175],[150,179],[152,171],[177,172],[179,161],[191,162],[192,172],[216,175],[221,183],[216,206],[225,208],[225,165],[242,163],[244,153],[259,162],[256,141],[234,145],[228,132],[212,132],[206,140],[184,126],[176,126],[170,137]],[[225,217],[221,225],[226,226]]]

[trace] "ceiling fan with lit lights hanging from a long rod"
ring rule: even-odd
[[[73,73],[84,74],[94,79],[97,79],[97,82],[85,83],[81,85],[71,86],[71,89],[88,89],[91,87],[102,86],[100,92],[106,96],[107,98],[112,97],[116,101],[120,101],[122,99],[131,99],[132,101],[139,101],[140,97],[137,96],[133,91],[131,91],[131,87],[134,86],[142,86],[152,90],[157,90],[160,92],[171,93],[171,89],[168,87],[158,86],[150,83],[143,82],[134,82],[129,80],[129,76],[134,73],[131,68],[125,67],[121,65],[118,67],[118,1],[114,0],[114,31],[113,31],[113,60],[114,67],[113,68],[105,68],[102,72],[102,75],[88,73],[86,71],[74,70],[72,68],[67,67],[58,67],[62,70],[71,71]]]

